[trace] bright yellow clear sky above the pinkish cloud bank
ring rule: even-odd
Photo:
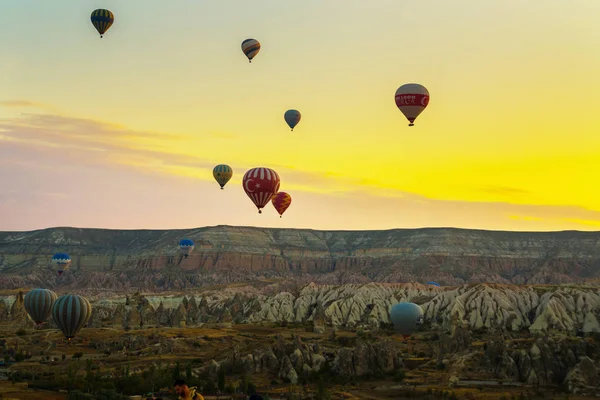
[[[271,166],[287,190],[314,195],[571,207],[557,209],[557,229],[594,224],[572,207],[600,212],[597,0],[106,3],[117,22],[102,40],[89,5],[56,5],[56,48],[33,35],[47,22],[25,11],[42,0],[11,6],[0,39],[5,120],[116,124],[118,137],[68,143],[111,142],[121,151],[104,162],[167,176],[210,181],[205,165],[228,163],[240,168],[235,185],[245,168]],[[161,12],[177,18],[157,32],[148,21]],[[239,48],[246,37],[263,46],[252,64]],[[411,128],[393,99],[407,82],[431,94]],[[288,108],[302,113],[293,133]],[[70,128],[47,129],[56,139]],[[515,229],[538,218],[490,212]]]

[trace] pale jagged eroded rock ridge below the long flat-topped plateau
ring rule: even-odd
[[[90,326],[198,326],[203,323],[307,323],[376,330],[389,327],[390,307],[419,304],[423,329],[578,334],[600,332],[600,288],[469,284],[440,288],[420,284],[317,285],[297,294],[238,286],[188,295],[91,298]],[[271,294],[263,294],[271,293]],[[0,321],[25,323],[22,295],[0,301]]]

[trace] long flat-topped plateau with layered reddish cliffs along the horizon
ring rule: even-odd
[[[196,242],[187,259],[177,251],[182,237]],[[49,267],[57,251],[73,258],[71,270],[60,280]],[[173,291],[274,277],[300,284],[597,282],[600,233],[450,228],[329,232],[230,226],[0,232],[1,288]]]

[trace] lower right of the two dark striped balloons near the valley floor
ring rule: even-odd
[[[87,324],[92,316],[92,305],[83,296],[65,294],[52,306],[52,319],[68,341]]]

